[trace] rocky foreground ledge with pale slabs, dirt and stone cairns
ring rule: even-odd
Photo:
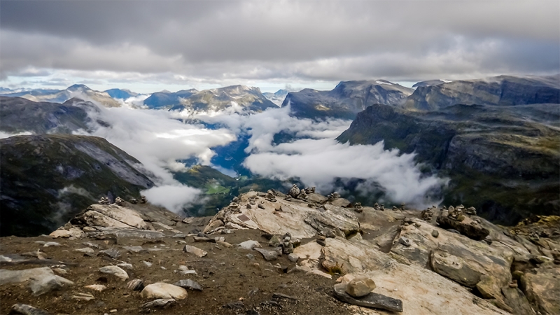
[[[362,207],[293,187],[213,218],[94,204],[0,239],[3,314],[560,314],[560,217]]]

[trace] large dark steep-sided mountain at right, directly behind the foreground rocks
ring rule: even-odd
[[[416,153],[451,179],[445,204],[472,204],[482,216],[514,223],[560,211],[558,104],[455,105],[410,112],[374,105],[338,140]]]

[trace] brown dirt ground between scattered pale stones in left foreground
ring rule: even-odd
[[[181,228],[177,228],[181,230]],[[187,228],[184,228],[186,232]],[[181,230],[183,232],[183,230]],[[167,232],[166,232],[167,233]],[[167,233],[169,234],[169,233]],[[225,236],[225,241],[238,244],[241,241],[253,239],[260,241],[263,248],[267,240],[261,236],[259,230],[235,231]],[[220,235],[221,236],[221,235]],[[188,244],[202,248],[208,252],[204,258],[182,251],[185,240]],[[35,241],[57,241],[61,246],[44,248]],[[86,256],[74,251],[76,248],[86,247],[83,242],[90,241],[97,244],[99,249],[118,248],[121,256],[118,260],[104,255]],[[311,240],[307,240],[311,241]],[[66,279],[73,281],[73,286],[64,286],[61,290],[45,293],[34,297],[26,283],[4,285],[0,287],[0,313],[8,314],[15,303],[30,304],[48,311],[50,314],[350,314],[348,304],[339,302],[332,297],[332,286],[336,276],[327,279],[314,274],[290,273],[274,267],[277,263],[281,267],[294,267],[295,263],[288,260],[287,255],[271,262],[267,262],[257,251],[240,248],[225,248],[207,242],[195,243],[193,237],[186,239],[172,238],[171,234],[161,241],[147,239],[120,239],[119,244],[108,244],[108,241],[96,239],[55,239],[50,237],[3,237],[0,239],[0,255],[13,253],[27,253],[41,248],[47,258],[67,262]],[[304,242],[303,242],[304,243]],[[143,246],[157,248],[159,251],[130,253],[123,246]],[[95,249],[95,253],[99,252]],[[254,258],[248,258],[251,254]],[[153,266],[146,267],[142,260],[152,262]],[[129,262],[133,270],[127,270],[130,279],[142,279],[144,285],[155,282],[175,283],[181,279],[192,279],[203,287],[201,291],[188,290],[185,300],[177,301],[169,309],[144,310],[141,305],[151,300],[141,297],[140,291],[126,288],[127,281],[102,274],[100,267]],[[197,276],[181,275],[174,272],[179,265],[187,265],[194,269]],[[1,269],[29,269],[34,267],[53,267],[54,265],[6,265]],[[163,269],[163,268],[165,269]],[[91,284],[103,284],[107,289],[97,292],[84,288]],[[76,293],[89,293],[94,300],[78,301],[73,299]],[[273,300],[273,293],[283,293],[295,297],[297,300],[280,298]],[[242,300],[243,306],[237,309],[224,307],[230,302]],[[272,301],[272,302],[270,302]],[[111,310],[113,312],[111,313]],[[116,311],[114,311],[116,310]],[[255,312],[256,311],[256,312]],[[257,313],[258,312],[258,313]]]

